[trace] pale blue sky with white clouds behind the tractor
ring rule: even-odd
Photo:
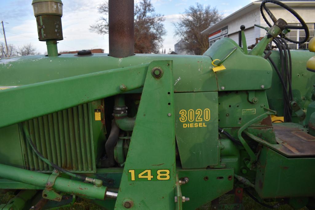
[[[97,7],[104,0],[62,0],[62,27],[64,40],[59,41],[59,51],[82,49],[104,49],[108,53],[108,35],[99,35],[89,31],[89,26],[100,18]],[[174,37],[172,22],[178,21],[180,14],[197,2],[216,7],[224,16],[241,9],[251,0],[151,0],[157,13],[166,18],[164,26],[167,35],[163,48],[174,50],[177,38]],[[0,21],[3,20],[8,44],[21,46],[31,43],[41,54],[45,53],[46,44],[38,41],[36,20],[33,16],[31,0],[0,0]],[[2,30],[2,28],[1,28]],[[2,32],[2,31],[1,31]],[[0,42],[4,42],[3,33]]]

